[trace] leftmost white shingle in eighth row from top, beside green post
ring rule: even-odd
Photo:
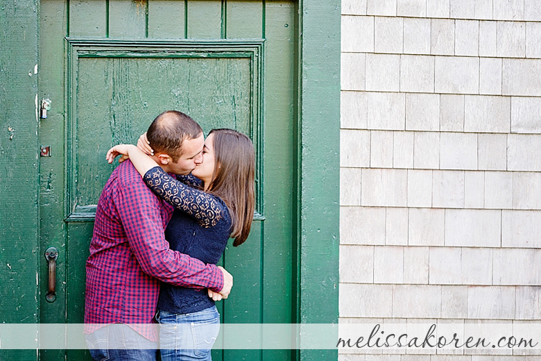
[[[374,246],[340,246],[340,282],[374,282]]]

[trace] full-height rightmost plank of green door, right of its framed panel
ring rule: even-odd
[[[264,273],[264,324],[295,323],[291,307],[293,299],[293,122],[271,119],[294,118],[293,39],[295,7],[287,2],[266,2],[265,8],[265,144],[268,154],[264,168],[266,243],[264,262],[272,265]],[[286,26],[286,24],[288,24]],[[284,86],[284,85],[289,86]],[[275,249],[280,249],[276,252]],[[285,307],[287,305],[287,307]],[[264,335],[265,337],[265,335]],[[269,336],[270,337],[270,336]],[[275,336],[273,336],[275,337]],[[288,338],[289,335],[282,335]],[[289,350],[262,350],[262,360],[291,360]]]

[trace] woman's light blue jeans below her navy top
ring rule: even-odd
[[[156,319],[162,361],[212,360],[210,350],[220,332],[216,306],[187,314],[158,310]]]

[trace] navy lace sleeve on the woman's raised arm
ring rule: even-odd
[[[223,205],[216,197],[196,190],[169,176],[161,167],[148,169],[143,181],[167,203],[197,219],[205,227],[216,226],[223,217]]]

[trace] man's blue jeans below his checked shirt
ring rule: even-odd
[[[110,324],[85,335],[94,361],[155,361],[157,342],[141,336],[126,324]]]

